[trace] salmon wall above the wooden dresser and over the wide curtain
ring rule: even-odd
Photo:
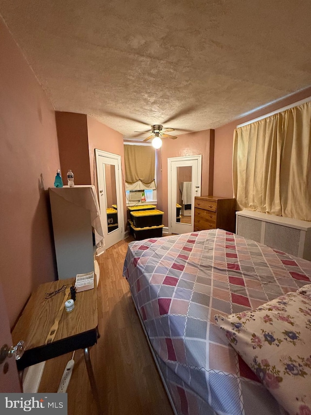
[[[233,197],[232,183],[232,156],[233,156],[233,133],[235,128],[247,121],[253,120],[279,108],[286,107],[302,99],[311,96],[311,88],[300,91],[275,104],[269,105],[250,115],[235,120],[215,129],[215,166],[214,166],[214,196]],[[251,108],[250,108],[251,110]]]

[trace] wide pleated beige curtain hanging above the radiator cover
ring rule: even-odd
[[[311,102],[234,132],[237,209],[311,221]]]

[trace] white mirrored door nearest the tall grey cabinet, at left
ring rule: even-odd
[[[95,149],[105,249],[124,238],[121,156]]]

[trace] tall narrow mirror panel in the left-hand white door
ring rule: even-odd
[[[116,171],[113,164],[105,164],[105,187],[108,234],[118,229]]]

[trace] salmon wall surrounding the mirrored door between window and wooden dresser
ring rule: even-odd
[[[196,156],[202,154],[201,195],[211,193],[209,188],[210,148],[212,136],[210,130],[193,132],[178,136],[177,140],[163,139],[157,154],[157,207],[164,212],[163,224],[168,226],[168,165],[170,157]],[[162,170],[162,171],[161,171]]]

